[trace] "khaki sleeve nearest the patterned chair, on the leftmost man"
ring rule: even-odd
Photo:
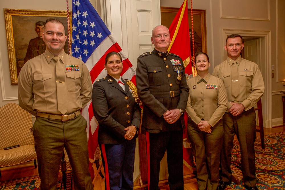
[[[34,104],[34,93],[32,91],[32,86],[32,72],[29,63],[27,62],[21,69],[18,77],[19,106],[35,116],[36,111],[32,108]]]

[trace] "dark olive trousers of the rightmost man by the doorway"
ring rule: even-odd
[[[255,111],[243,111],[238,116],[233,116],[226,112],[223,116],[224,138],[221,152],[221,180],[230,181],[231,172],[231,152],[233,149],[233,139],[235,134],[239,140],[241,149],[241,171],[243,182],[248,187],[256,186],[255,177]]]

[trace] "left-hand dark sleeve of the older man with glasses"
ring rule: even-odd
[[[157,117],[161,117],[167,111],[167,109],[152,94],[150,94],[147,68],[141,58],[138,58],[136,81],[139,99]]]

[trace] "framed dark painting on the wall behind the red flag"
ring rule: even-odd
[[[169,28],[178,11],[179,8],[160,7],[161,24]],[[192,34],[192,25],[191,25],[191,9],[188,9],[188,23],[189,23],[191,56],[193,57],[192,37],[194,37],[195,54],[201,51],[207,53],[206,11],[193,9],[193,28],[194,28],[193,34]]]

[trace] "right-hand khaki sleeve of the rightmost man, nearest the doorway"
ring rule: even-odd
[[[264,82],[257,64],[254,64],[253,70],[254,73],[251,81],[252,93],[241,103],[245,107],[245,111],[254,107],[264,92]]]

